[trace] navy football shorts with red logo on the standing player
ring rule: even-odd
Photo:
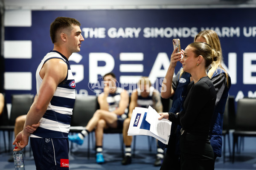
[[[37,170],[68,170],[68,139],[30,138]]]

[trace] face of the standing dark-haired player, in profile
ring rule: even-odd
[[[67,35],[69,40],[69,49],[71,53],[79,52],[81,47],[81,42],[84,38],[81,34],[81,29],[79,26],[73,26],[70,34]]]

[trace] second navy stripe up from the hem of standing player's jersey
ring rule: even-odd
[[[46,113],[44,113],[43,118],[49,119],[52,121],[61,122],[63,124],[70,125],[71,122],[71,116],[66,114],[61,114],[55,111],[47,110]]]

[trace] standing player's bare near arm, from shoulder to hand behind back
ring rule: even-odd
[[[27,125],[31,126],[37,124],[44,116],[58,84],[67,76],[67,64],[62,59],[50,59],[44,63],[40,71],[40,76],[43,81],[38,96],[35,98],[35,101],[27,113],[23,130],[17,135],[13,142],[13,144],[16,144],[18,147],[16,150],[21,150],[27,145],[30,133],[25,130],[25,127]],[[17,144],[18,141],[20,141],[19,144]]]

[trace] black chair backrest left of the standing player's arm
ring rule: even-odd
[[[12,94],[10,125],[15,125],[15,119],[18,116],[28,113],[33,100],[33,94]]]

